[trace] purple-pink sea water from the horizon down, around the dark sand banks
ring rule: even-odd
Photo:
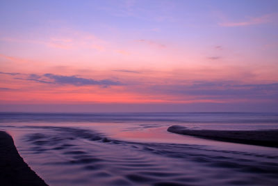
[[[277,185],[278,149],[167,132],[277,130],[273,113],[0,113],[49,185]]]

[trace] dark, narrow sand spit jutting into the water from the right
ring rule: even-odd
[[[278,147],[278,130],[189,130],[172,125],[168,132],[240,144]]]

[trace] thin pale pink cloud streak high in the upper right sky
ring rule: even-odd
[[[251,17],[249,20],[245,20],[242,22],[222,22],[219,25],[225,27],[234,27],[234,26],[250,26],[255,24],[265,24],[268,22],[272,22],[277,18],[277,14],[268,14],[263,15],[261,17]]]

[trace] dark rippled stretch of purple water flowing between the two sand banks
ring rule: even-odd
[[[27,134],[24,143],[50,185],[278,184],[277,155],[116,141],[69,127]]]

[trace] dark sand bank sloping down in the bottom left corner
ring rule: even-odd
[[[0,184],[47,185],[20,157],[13,138],[0,131]]]

